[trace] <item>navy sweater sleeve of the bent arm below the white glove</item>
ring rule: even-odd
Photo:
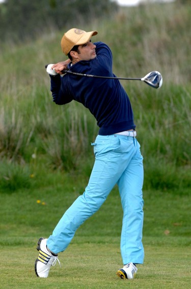
[[[60,74],[56,76],[50,75],[50,91],[53,101],[56,104],[66,104],[73,100],[73,98],[65,92],[64,87],[62,87]]]

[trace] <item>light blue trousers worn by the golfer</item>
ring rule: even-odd
[[[77,228],[101,207],[115,184],[118,184],[123,208],[121,232],[123,264],[128,262],[142,264],[144,202],[143,157],[140,144],[133,137],[98,135],[92,145],[95,163],[88,186],[84,194],[75,200],[60,219],[47,240],[47,247],[55,254],[66,250]]]

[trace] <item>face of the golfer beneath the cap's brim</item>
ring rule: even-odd
[[[83,45],[79,45],[78,53],[75,53],[76,60],[81,61],[94,59],[96,57],[95,48],[96,46],[91,42],[91,40]]]

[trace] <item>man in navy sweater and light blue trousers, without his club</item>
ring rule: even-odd
[[[39,256],[35,272],[43,278],[48,277],[51,265],[58,260],[58,253],[66,250],[77,228],[97,212],[116,184],[123,209],[123,266],[117,275],[122,279],[134,278],[137,264],[142,264],[144,260],[143,157],[135,138],[129,98],[118,79],[85,78],[67,73],[63,77],[60,75],[64,69],[69,69],[82,74],[114,77],[112,52],[105,43],[91,41],[96,34],[97,31],[86,32],[75,28],[67,31],[61,47],[69,59],[51,65],[47,70],[53,101],[60,105],[72,100],[82,103],[96,118],[99,134],[92,143],[95,163],[84,193],[64,213],[52,235],[38,240]]]

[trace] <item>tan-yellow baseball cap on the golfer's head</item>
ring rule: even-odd
[[[62,51],[64,52],[64,54],[68,55],[70,50],[75,45],[82,45],[87,43],[90,40],[90,38],[96,35],[97,33],[98,33],[97,31],[86,32],[84,30],[77,28],[72,28],[68,30],[61,40]]]

